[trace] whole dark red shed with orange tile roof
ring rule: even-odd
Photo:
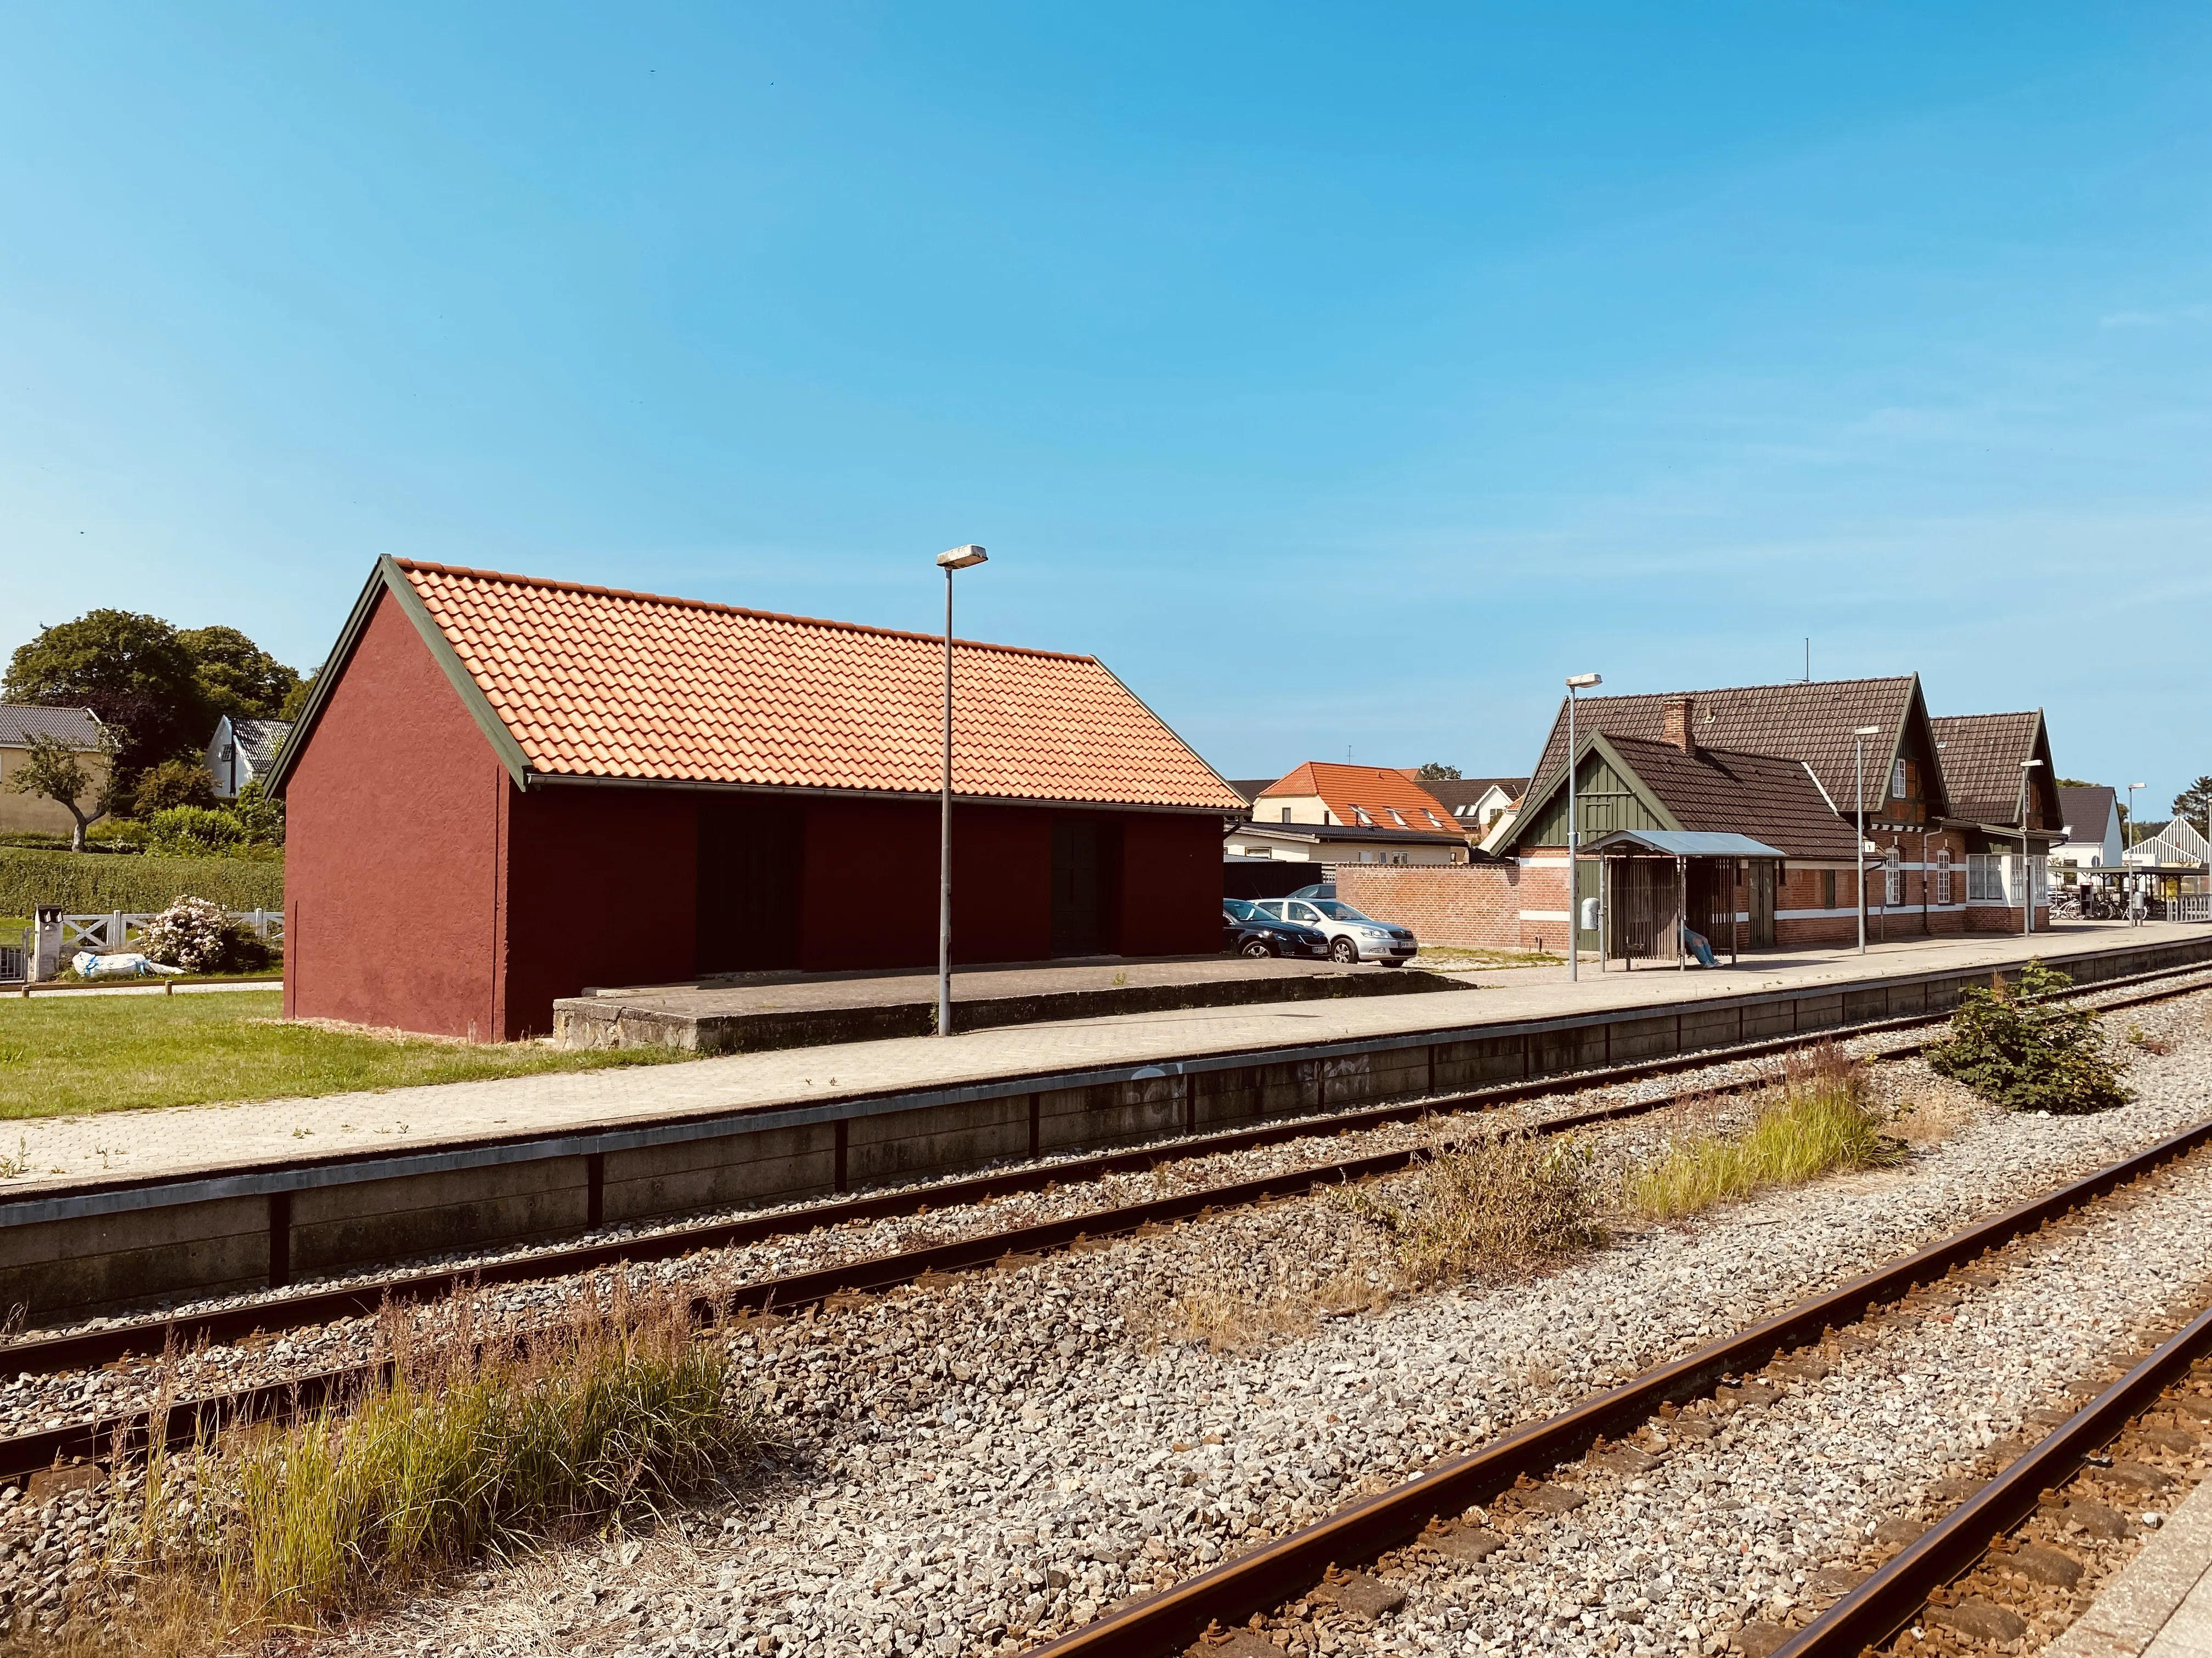
[[[380,559],[276,758],[285,1015],[936,962],[945,641]],[[1243,800],[1093,657],[953,650],[953,959],[1221,948]]]

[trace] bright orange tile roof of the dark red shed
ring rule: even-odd
[[[396,559],[533,772],[936,794],[942,637]],[[1237,811],[1095,657],[953,646],[953,791]]]

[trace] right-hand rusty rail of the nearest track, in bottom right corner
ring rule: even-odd
[[[1889,1565],[1790,1636],[1774,1649],[1774,1658],[1858,1658],[1863,1649],[1880,1647],[1911,1623],[1929,1594],[1969,1572],[1997,1536],[2035,1512],[2046,1490],[2073,1479],[2090,1452],[2148,1410],[2208,1351],[2212,1307],[1922,1532]]]

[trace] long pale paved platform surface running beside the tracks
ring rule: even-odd
[[[1971,935],[1869,946],[1867,955],[1785,951],[1717,970],[1599,975],[1593,964],[1584,964],[1579,984],[1568,984],[1564,966],[1478,968],[1455,975],[1464,988],[1436,995],[1179,1008],[975,1030],[947,1039],[898,1037],[726,1054],[635,1070],[35,1119],[9,1130],[9,1138],[20,1136],[20,1150],[7,1150],[20,1154],[27,1172],[0,1178],[0,1203],[119,1178],[257,1169],[303,1156],[425,1152],[524,1134],[580,1134],[761,1108],[825,1105],[843,1096],[958,1090],[1042,1072],[1144,1068],[1208,1054],[1292,1050],[1422,1030],[1480,1030],[1617,1008],[1694,1006],[1756,990],[2017,966],[2031,955],[2064,966],[2068,955],[2199,942],[2208,935],[2205,926],[2179,922],[2073,922],[2033,940]]]

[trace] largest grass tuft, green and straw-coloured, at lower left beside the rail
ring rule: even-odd
[[[759,1444],[688,1293],[633,1300],[617,1278],[606,1304],[582,1298],[529,1335],[487,1329],[480,1307],[387,1309],[389,1364],[354,1397],[157,1455],[128,1559],[108,1565],[113,1616],[66,1649],[252,1649],[681,1499]]]

